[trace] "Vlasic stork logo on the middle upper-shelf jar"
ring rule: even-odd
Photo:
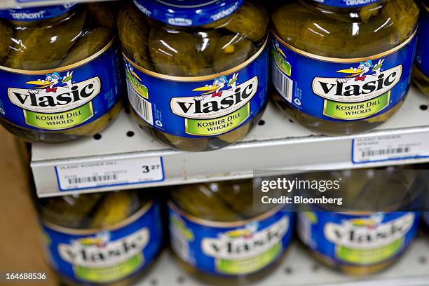
[[[258,90],[258,77],[238,84],[238,74],[231,79],[220,76],[211,85],[195,88],[200,95],[173,97],[170,107],[174,114],[185,118],[209,119],[231,114],[243,107]]]

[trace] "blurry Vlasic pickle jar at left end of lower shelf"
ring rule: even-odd
[[[130,285],[161,249],[160,206],[140,191],[36,203],[50,266],[66,285]]]

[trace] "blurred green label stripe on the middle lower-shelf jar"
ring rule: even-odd
[[[216,259],[216,268],[219,273],[240,275],[261,270],[273,262],[282,253],[281,243],[257,256],[247,259]]]

